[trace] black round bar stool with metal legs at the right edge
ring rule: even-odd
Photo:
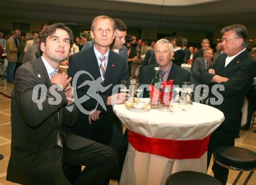
[[[247,184],[256,169],[256,153],[246,148],[219,147],[215,150],[214,160],[224,168],[240,171],[233,184],[237,183],[244,171],[251,171],[243,183]]]

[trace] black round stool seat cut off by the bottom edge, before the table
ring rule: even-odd
[[[165,185],[222,185],[219,180],[201,172],[182,171],[170,175]]]

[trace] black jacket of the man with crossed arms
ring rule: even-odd
[[[213,134],[225,134],[236,138],[239,137],[241,109],[244,103],[244,97],[250,89],[251,84],[253,84],[256,73],[256,62],[247,51],[244,51],[225,67],[226,57],[227,55],[222,54],[210,67],[215,69],[215,74],[229,78],[227,83],[221,83],[225,87],[225,90],[220,91],[218,89],[215,90],[215,93],[211,91],[212,86],[217,83],[211,83],[214,74],[208,73],[207,70],[200,74],[200,80],[205,84],[209,84],[209,98],[212,98],[212,100],[216,98],[215,101],[217,101],[219,95],[223,97],[223,102],[220,105],[214,105],[213,102],[208,101],[208,105],[219,109],[225,116],[224,122]]]

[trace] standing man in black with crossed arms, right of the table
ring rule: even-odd
[[[234,138],[239,137],[241,126],[241,108],[244,97],[253,84],[256,62],[246,51],[248,39],[247,29],[241,24],[226,26],[221,30],[223,55],[208,71],[200,74],[200,80],[209,84],[208,105],[224,113],[225,120],[212,133],[208,146],[208,164],[217,147],[233,146]],[[222,85],[225,90],[216,90],[219,97],[212,93],[212,86]],[[215,92],[216,94],[216,92]],[[222,98],[222,102],[215,102]],[[212,101],[214,100],[214,101]],[[217,104],[217,105],[216,105]],[[229,170],[214,162],[212,171],[216,179],[223,184],[227,182]]]

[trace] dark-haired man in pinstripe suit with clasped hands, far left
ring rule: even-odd
[[[52,24],[40,38],[42,56],[17,69],[7,180],[68,185],[62,169],[66,162],[86,166],[74,184],[102,184],[116,164],[116,152],[111,148],[62,129],[63,124],[72,126],[77,117],[71,78],[56,73],[69,55],[72,42],[73,33],[68,27]]]

